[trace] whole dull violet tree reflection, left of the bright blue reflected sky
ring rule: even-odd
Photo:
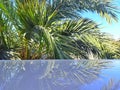
[[[77,90],[99,77],[110,61],[41,60],[0,64],[0,90]]]

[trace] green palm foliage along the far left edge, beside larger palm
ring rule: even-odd
[[[13,29],[10,16],[11,2],[0,0],[0,59],[18,59],[13,48],[16,47],[16,32]]]

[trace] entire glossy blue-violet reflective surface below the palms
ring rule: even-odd
[[[0,90],[120,90],[119,60],[0,61],[0,68]]]

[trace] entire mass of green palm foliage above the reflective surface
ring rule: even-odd
[[[112,0],[0,0],[0,59],[113,59],[120,42],[83,18],[117,21]]]

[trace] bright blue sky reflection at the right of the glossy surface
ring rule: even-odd
[[[117,89],[106,89],[106,90],[120,90],[120,61],[112,61],[112,63],[109,65],[111,66],[108,69],[102,69],[101,73],[99,75],[99,79],[93,81],[90,84],[83,85],[80,90],[102,90],[102,88],[109,84],[110,80],[113,80],[113,87],[115,87],[115,84],[119,84]]]

